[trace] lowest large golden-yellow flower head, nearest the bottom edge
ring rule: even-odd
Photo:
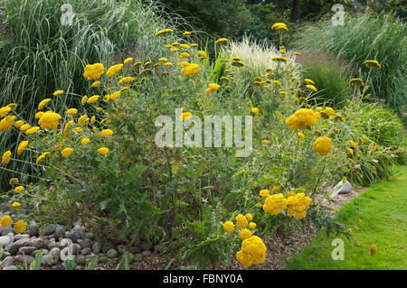
[[[252,236],[241,242],[241,250],[236,253],[236,260],[244,267],[260,265],[264,262],[267,248],[260,237]]]

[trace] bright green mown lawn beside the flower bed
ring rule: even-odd
[[[331,246],[336,237],[327,238],[320,231],[311,245],[289,261],[286,269],[407,269],[407,166],[394,167],[392,181],[380,181],[358,197],[345,204],[336,219],[353,227],[358,219],[364,221],[360,230],[354,230],[358,247],[346,237],[345,259],[333,260]],[[377,246],[376,255],[369,253],[372,244]]]

